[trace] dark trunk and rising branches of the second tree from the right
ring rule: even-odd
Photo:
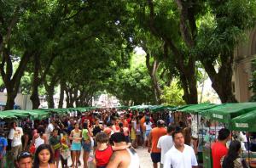
[[[195,16],[193,13],[193,8],[190,11],[188,7],[184,7],[181,0],[176,0],[178,9],[180,11],[180,34],[188,48],[193,48],[195,46],[195,37],[196,37],[196,25],[195,25]],[[154,2],[153,0],[148,0],[149,7],[149,28],[154,36],[160,37],[172,51],[174,57],[175,66],[180,75],[180,81],[182,82],[183,87],[183,99],[187,104],[197,104],[197,88],[196,88],[196,73],[195,73],[195,56],[183,54],[175,43],[172,41],[170,36],[160,33],[160,31],[154,26]],[[189,27],[187,27],[189,23]],[[168,53],[166,49],[165,53]],[[169,54],[166,54],[169,55]]]

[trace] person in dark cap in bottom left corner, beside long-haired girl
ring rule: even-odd
[[[18,168],[32,168],[32,154],[26,151],[18,154],[16,165]]]

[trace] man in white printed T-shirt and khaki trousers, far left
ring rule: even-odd
[[[12,123],[12,128],[9,132],[9,139],[12,140],[12,154],[13,154],[13,160],[17,159],[17,155],[22,151],[22,143],[21,143],[21,137],[23,136],[23,130],[19,126],[17,126],[16,122]]]

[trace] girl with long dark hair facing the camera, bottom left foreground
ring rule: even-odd
[[[34,168],[56,168],[54,155],[49,144],[38,146],[34,158]]]

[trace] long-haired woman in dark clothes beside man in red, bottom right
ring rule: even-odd
[[[229,152],[224,156],[223,168],[241,168],[247,167],[241,163],[241,158],[239,156],[241,152],[241,143],[239,141],[232,141],[230,143]]]

